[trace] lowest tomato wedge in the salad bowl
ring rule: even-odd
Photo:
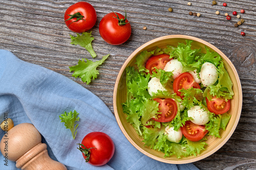
[[[204,125],[196,125],[191,121],[187,121],[181,127],[181,132],[190,141],[199,141],[208,133]]]

